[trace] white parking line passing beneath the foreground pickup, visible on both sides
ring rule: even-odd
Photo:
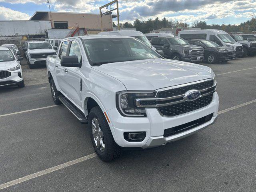
[[[252,101],[249,101],[249,102],[246,102],[246,103],[243,103],[243,104],[240,104],[240,105],[237,105],[237,106],[234,106],[234,107],[231,107],[231,108],[228,108],[228,109],[225,109],[225,110],[221,110],[221,111],[218,112],[218,114],[222,114],[222,113],[225,113],[225,112],[228,112],[228,111],[240,108],[242,106],[245,106],[245,105],[248,105],[248,104],[251,104],[251,103],[254,103],[254,102],[256,102],[256,99],[254,99]],[[30,179],[33,179],[33,178],[36,178],[36,177],[42,176],[44,174],[48,174],[48,173],[54,172],[56,170],[60,170],[60,169],[66,168],[68,166],[77,164],[79,162],[83,162],[85,160],[94,158],[96,156],[97,156],[97,154],[93,153],[93,154],[90,154],[90,155],[87,155],[87,156],[84,156],[84,157],[81,157],[81,158],[78,158],[78,159],[75,159],[75,160],[72,160],[72,161],[69,161],[69,162],[57,165],[57,166],[54,166],[52,168],[48,168],[48,169],[45,169],[45,170],[42,170],[42,171],[30,174],[30,175],[27,175],[27,176],[24,176],[22,178],[19,178],[19,179],[16,179],[16,180],[12,180],[10,182],[1,184],[0,185],[0,190],[4,189],[4,188],[7,188],[7,187],[10,187],[10,186],[13,186],[13,185],[16,185],[16,184],[19,184],[19,183],[22,183],[24,181],[27,181],[27,180],[30,180]]]

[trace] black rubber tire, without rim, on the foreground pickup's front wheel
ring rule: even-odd
[[[104,150],[99,149],[94,141],[94,136],[92,133],[92,120],[95,120],[95,118],[99,122],[100,131],[103,132]],[[114,141],[106,117],[104,116],[99,106],[96,106],[90,110],[88,121],[92,145],[99,158],[105,162],[110,162],[119,158],[121,154],[121,147],[118,146],[118,144],[116,144]]]

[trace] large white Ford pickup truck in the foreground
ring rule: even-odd
[[[46,65],[55,104],[89,124],[93,147],[107,162],[122,148],[161,146],[217,118],[209,67],[164,59],[136,38],[66,38]]]

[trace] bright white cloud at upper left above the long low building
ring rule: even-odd
[[[28,20],[29,15],[0,6],[0,20]]]

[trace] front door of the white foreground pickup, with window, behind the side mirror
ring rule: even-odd
[[[78,40],[70,41],[67,56],[78,57],[78,62],[82,63],[82,50]],[[79,67],[64,67],[64,90],[68,97],[78,106],[82,108],[81,92],[82,78]]]

